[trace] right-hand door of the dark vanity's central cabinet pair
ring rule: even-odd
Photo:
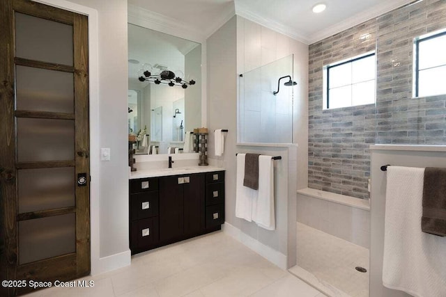
[[[189,177],[189,179],[187,179]],[[194,235],[204,230],[204,175],[185,176],[184,234]]]

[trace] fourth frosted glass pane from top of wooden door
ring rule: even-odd
[[[75,168],[18,170],[19,214],[75,206]]]

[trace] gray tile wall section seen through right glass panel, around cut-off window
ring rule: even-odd
[[[446,95],[412,94],[413,40],[446,28],[446,1],[414,3],[376,22],[376,143],[446,144]]]

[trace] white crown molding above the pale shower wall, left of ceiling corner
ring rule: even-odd
[[[289,38],[293,38],[294,40],[298,40],[300,42],[305,43],[306,45],[309,45],[309,38],[303,34],[297,33],[296,29],[294,29],[292,26],[288,26],[286,24],[276,22],[275,20],[270,19],[268,17],[263,17],[256,13],[253,13],[251,10],[249,10],[249,8],[238,3],[238,1],[235,2],[236,2],[236,14],[240,15],[240,17],[249,19],[249,21],[260,24],[261,26],[266,26],[268,29],[272,29],[274,31],[277,31],[279,33],[288,36]]]

